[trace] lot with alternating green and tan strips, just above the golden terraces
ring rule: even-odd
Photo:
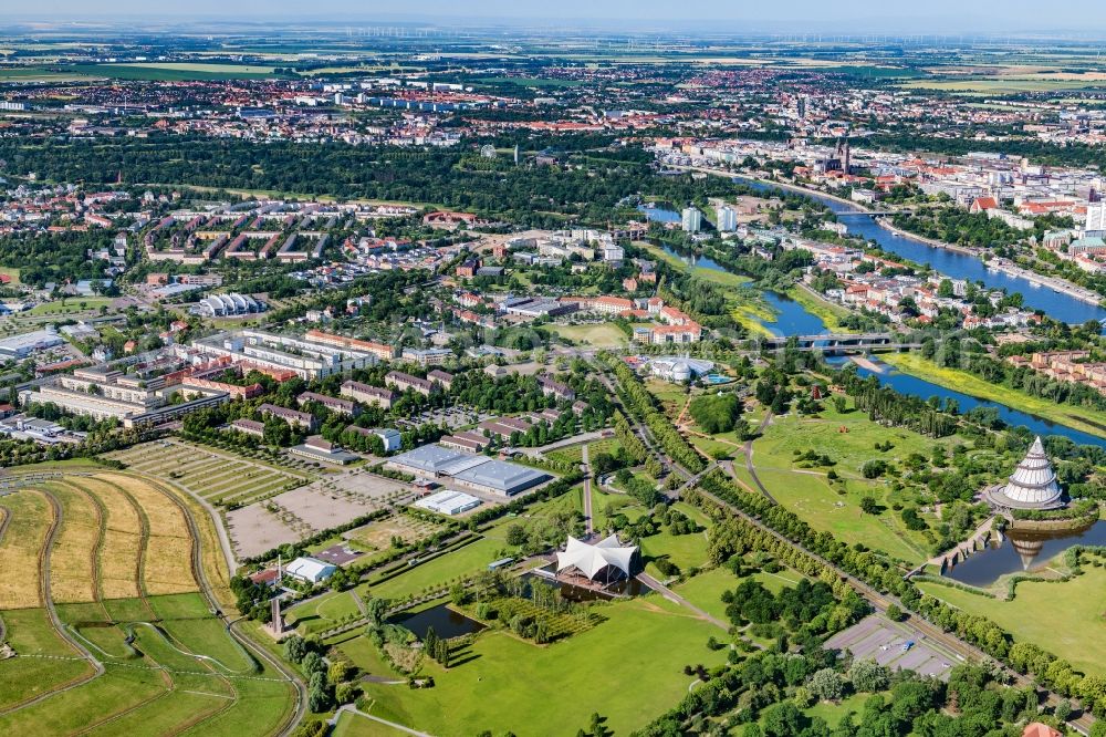
[[[313,476],[180,440],[136,445],[113,453],[129,470],[167,479],[221,507],[241,507],[294,489]]]

